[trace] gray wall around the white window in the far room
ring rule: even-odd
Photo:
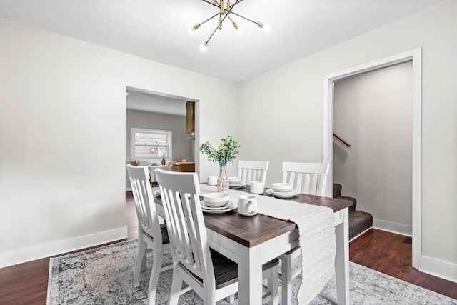
[[[157,114],[155,112],[136,111],[127,109],[126,111],[126,161],[131,161],[130,157],[130,129],[131,127],[147,129],[165,129],[173,132],[172,156],[166,156],[170,159],[187,159],[194,160],[194,142],[187,139],[186,134],[186,117],[174,116],[171,114]],[[141,166],[146,166],[147,161],[141,161]],[[126,174],[126,187],[130,187],[130,181]]]

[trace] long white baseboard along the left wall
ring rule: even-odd
[[[127,227],[0,253],[0,268],[127,238]]]

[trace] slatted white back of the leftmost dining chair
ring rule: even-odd
[[[147,166],[127,164],[127,172],[134,196],[138,224],[146,234],[154,238],[157,244],[162,244],[159,218],[149,182],[149,169]]]

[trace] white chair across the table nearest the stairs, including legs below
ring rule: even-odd
[[[290,183],[293,189],[300,191],[302,194],[324,196],[326,192],[326,181],[330,164],[328,163],[301,163],[301,162],[283,162],[283,182]],[[291,251],[280,256],[281,264],[287,260],[288,266],[292,261],[301,254],[301,248],[296,247]],[[291,281],[301,274],[301,267],[296,270],[287,270],[281,274],[282,291],[288,289],[291,295]],[[286,300],[283,299],[283,303]]]

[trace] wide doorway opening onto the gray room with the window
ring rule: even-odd
[[[189,131],[187,119],[188,101],[194,102],[194,128]],[[126,164],[139,162],[148,164],[186,162],[198,172],[199,154],[196,154],[196,140],[199,138],[199,103],[196,99],[174,96],[146,89],[126,87]],[[134,144],[132,130],[146,136]],[[144,132],[143,132],[144,131]],[[134,149],[135,148],[135,149]],[[166,154],[160,154],[161,151]],[[167,165],[168,165],[167,164]],[[126,174],[126,190],[130,190]]]

